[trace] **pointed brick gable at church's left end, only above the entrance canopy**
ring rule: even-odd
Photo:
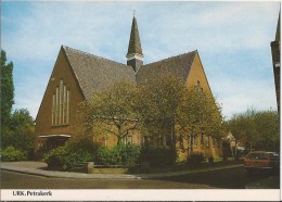
[[[61,90],[61,94],[59,94],[59,90]],[[63,93],[63,90],[65,93]],[[57,99],[63,100],[63,97],[66,97],[66,91],[68,91],[69,97],[70,114],[67,124],[73,124],[75,123],[76,117],[72,115],[77,112],[79,108],[78,104],[85,100],[85,97],[74,75],[74,72],[69,66],[69,62],[64,51],[61,49],[36,117],[36,132],[40,135],[69,134],[69,131],[65,131],[65,128],[54,127],[52,116],[52,109],[54,109],[54,97],[61,96]],[[63,104],[63,101],[60,101],[60,103]]]

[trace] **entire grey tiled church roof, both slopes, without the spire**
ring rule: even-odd
[[[187,80],[197,51],[192,51],[140,67],[136,74],[131,66],[62,46],[78,85],[86,99],[94,91],[103,91],[116,83],[128,80],[142,85],[165,74]]]

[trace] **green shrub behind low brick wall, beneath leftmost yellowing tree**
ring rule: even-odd
[[[101,165],[134,165],[139,159],[140,149],[132,144],[116,146],[113,149],[99,148],[97,163]]]

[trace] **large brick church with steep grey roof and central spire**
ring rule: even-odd
[[[36,117],[35,152],[46,152],[63,146],[73,136],[79,103],[89,99],[93,92],[103,91],[124,79],[140,85],[155,79],[162,74],[170,73],[181,77],[187,87],[197,87],[211,96],[196,50],[143,64],[144,54],[136,17],[132,20],[126,56],[127,64],[121,64],[66,46],[61,47]],[[105,134],[99,141],[112,147],[116,143],[116,139],[108,137]],[[145,141],[153,141],[153,139],[148,135],[137,132],[128,136],[125,141],[142,144]],[[169,136],[163,138],[164,146],[168,146],[169,141]],[[193,152],[208,153],[213,156],[221,154],[220,139],[213,136],[198,135],[191,140],[191,137],[183,135],[182,141],[178,143],[179,156],[182,159],[187,156],[188,148],[191,149],[191,141],[193,141]]]

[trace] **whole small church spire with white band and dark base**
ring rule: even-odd
[[[132,66],[136,73],[140,68],[140,66],[143,65],[144,56],[142,53],[136,16],[133,16],[133,21],[132,21],[130,39],[129,39],[126,58],[127,58],[127,65]]]

